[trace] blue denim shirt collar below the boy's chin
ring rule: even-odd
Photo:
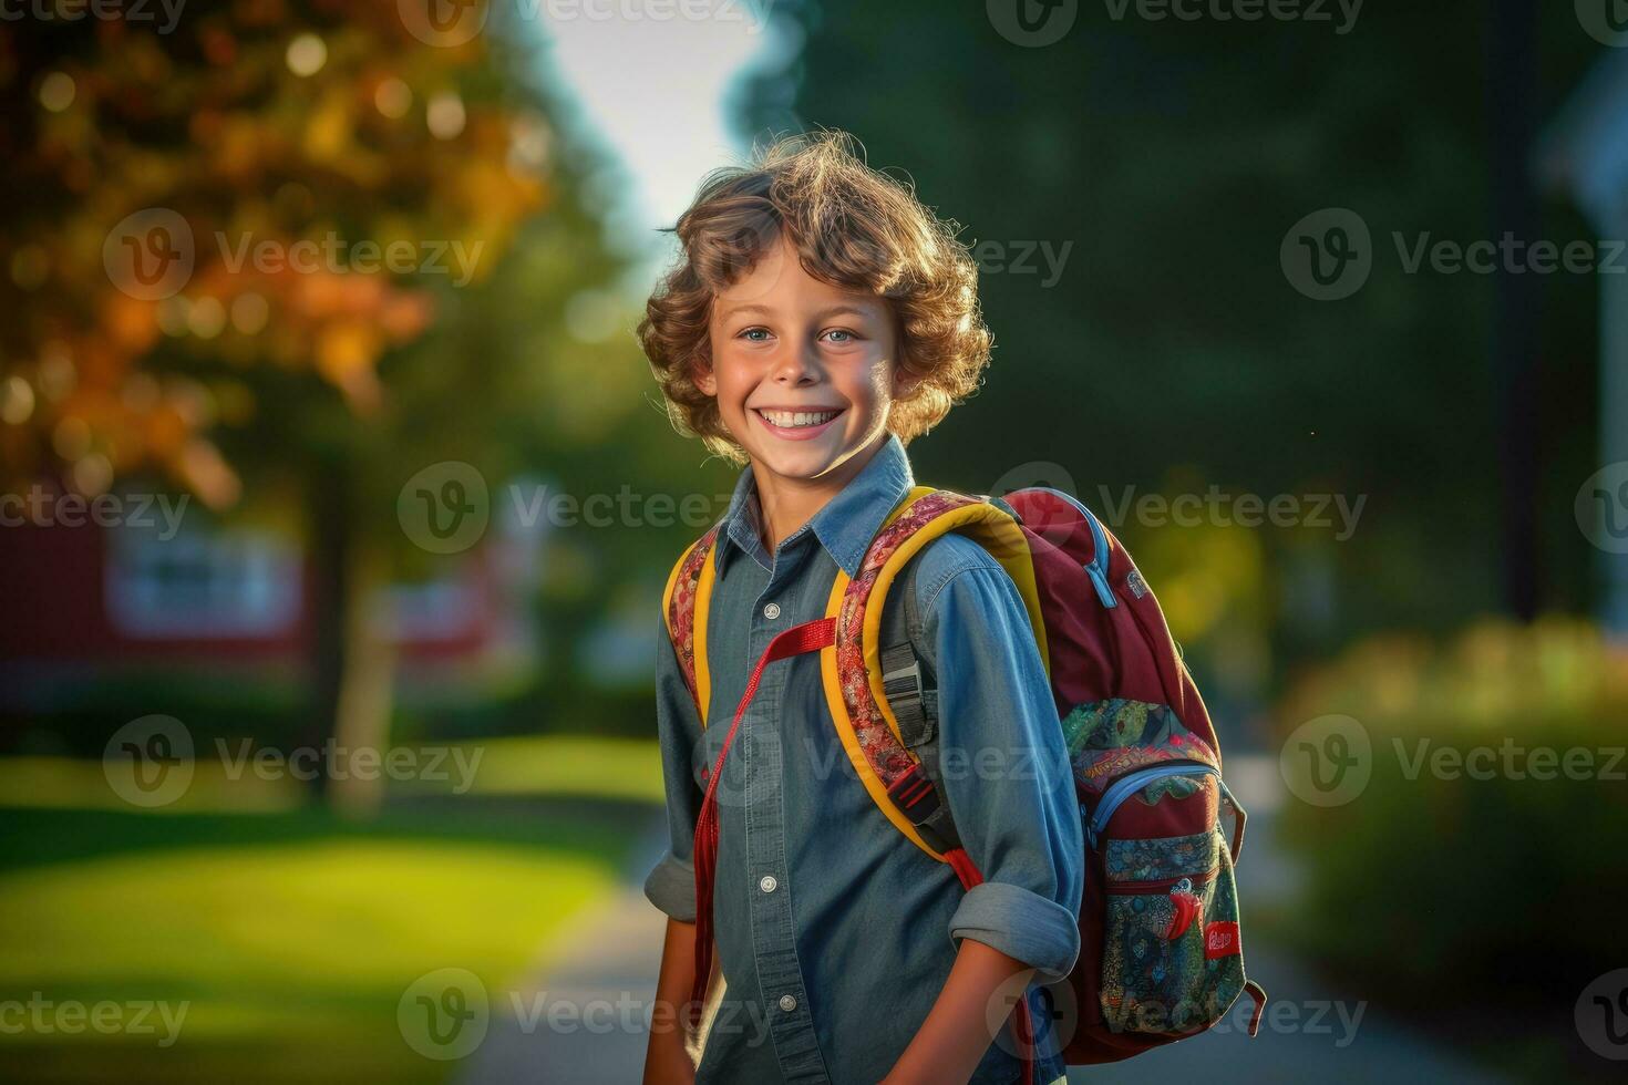
[[[860,561],[864,560],[864,550],[871,545],[871,538],[876,537],[887,514],[905,499],[912,486],[915,486],[915,475],[910,470],[910,457],[905,454],[899,434],[889,431],[882,447],[871,455],[860,473],[842,488],[842,493],[809,517],[809,522],[799,527],[791,538],[804,530],[812,530],[842,571],[850,577],[858,576]],[[772,564],[759,532],[760,514],[757,478],[752,475],[752,467],[747,465],[741,468],[741,477],[729,498],[729,511],[720,521],[718,576],[724,574],[736,553],[760,555],[759,561]]]

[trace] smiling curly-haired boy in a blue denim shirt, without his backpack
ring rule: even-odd
[[[716,171],[677,236],[640,340],[681,433],[746,464],[708,558],[708,717],[729,721],[768,641],[825,613],[838,569],[856,574],[915,481],[905,444],[977,387],[990,335],[952,229],[840,133]],[[915,561],[941,758],[962,766],[943,787],[983,883],[962,890],[879,813],[817,657],[767,667],[718,781],[724,996],[697,1067],[674,1022],[695,981],[695,821],[729,727],[702,729],[663,621],[671,849],[645,893],[669,919],[646,1085],[1008,1085],[1019,991],[1040,1033],[1034,1082],[1063,1074],[1031,983],[1066,976],[1079,950],[1079,807],[1071,776],[1045,768],[1066,766],[1057,708],[1000,563],[954,534]]]

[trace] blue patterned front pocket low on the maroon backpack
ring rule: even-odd
[[[1211,1026],[1244,989],[1237,890],[1221,826],[1105,839],[1102,1018],[1115,1033]]]

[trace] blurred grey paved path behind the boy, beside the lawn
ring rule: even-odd
[[[1245,901],[1286,900],[1294,891],[1294,869],[1275,846],[1276,807],[1281,804],[1276,763],[1265,756],[1234,755],[1228,782],[1250,813],[1249,838],[1239,865]],[[555,956],[545,976],[519,991],[523,1007],[568,1004],[604,1005],[593,1031],[586,1026],[550,1028],[547,1020],[526,1026],[511,1013],[508,992],[493,992],[493,1017],[485,1043],[469,1056],[459,1085],[637,1085],[645,1057],[643,1013],[656,987],[664,922],[640,888],[661,854],[653,833],[637,849],[625,887],[602,908],[583,916],[562,939],[568,950]],[[1247,932],[1245,932],[1247,937]],[[1249,999],[1234,1005],[1210,1033],[1136,1056],[1118,1065],[1076,1067],[1068,1080],[1099,1082],[1498,1082],[1496,1075],[1459,1059],[1446,1046],[1421,1038],[1387,1018],[1384,997],[1374,992],[1333,991],[1293,958],[1255,939],[1245,945],[1249,973],[1271,1002],[1260,1035],[1250,1039]],[[615,1010],[630,1005],[630,1010]],[[635,1025],[622,1022],[632,1018]],[[837,1085],[848,1085],[838,1082]]]

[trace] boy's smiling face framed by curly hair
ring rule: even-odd
[[[814,278],[785,234],[718,293],[708,335],[711,369],[695,384],[718,400],[759,478],[847,481],[843,464],[908,394],[887,301]]]

